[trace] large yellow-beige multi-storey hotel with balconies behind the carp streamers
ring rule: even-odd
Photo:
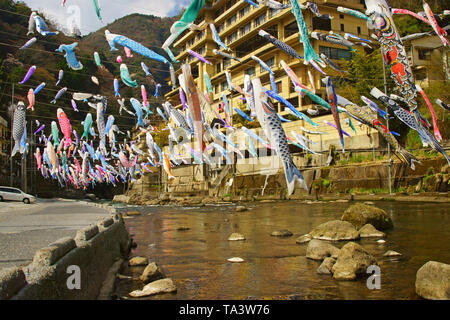
[[[279,2],[288,3],[289,0],[281,0]],[[304,3],[306,1],[299,0],[299,2]],[[319,18],[309,10],[302,10],[303,17],[310,32],[318,31],[328,33],[329,31],[333,31],[342,36],[344,33],[351,33],[363,38],[369,37],[369,31],[365,21],[339,13],[336,10],[338,6],[342,5],[364,11],[364,1],[319,0],[315,1],[315,3],[318,5],[322,15],[329,14],[333,19]],[[290,66],[303,84],[311,87],[312,84],[308,75],[309,70],[313,74],[316,94],[325,98],[325,86],[321,83],[323,76],[318,71],[311,66],[306,66],[303,60],[295,59],[287,55],[258,35],[258,31],[263,29],[290,45],[300,55],[303,55],[303,45],[299,41],[297,22],[290,8],[274,10],[265,5],[260,5],[259,8],[256,8],[246,1],[216,0],[210,7],[204,7],[200,11],[195,23],[199,26],[213,23],[221,40],[232,50],[231,53],[241,60],[241,62],[238,62],[213,53],[213,49],[219,50],[220,48],[213,41],[212,32],[209,27],[203,31],[187,31],[174,43],[174,47],[180,49],[180,53],[176,56],[177,60],[181,63],[190,64],[192,75],[201,92],[207,91],[204,73],[206,72],[209,75],[214,91],[213,94],[209,95],[209,98],[214,110],[219,110],[222,93],[226,94],[230,103],[230,109],[237,107],[241,110],[247,110],[242,100],[242,95],[232,92],[228,87],[225,70],[231,75],[233,84],[239,85],[241,88],[243,87],[244,76],[246,74],[252,78],[259,77],[263,86],[266,88],[271,87],[269,73],[251,58],[252,55],[260,58],[271,67],[275,73],[278,94],[288,100],[297,110],[306,113],[309,108],[314,108],[315,105],[308,97],[301,97],[294,90],[294,86],[289,77],[280,66],[281,60],[284,60]],[[326,54],[335,63],[338,63],[340,59],[351,59],[351,52],[346,47],[312,38],[310,38],[310,41],[318,54]],[[206,64],[195,59],[187,52],[187,49],[198,52],[212,64]],[[177,70],[176,73],[179,75],[181,70]],[[165,97],[175,107],[181,107],[178,88],[168,92]],[[284,110],[284,105],[280,103],[276,105],[281,116],[286,117],[289,115]],[[325,131],[329,134],[320,136],[308,135],[309,139],[316,142],[311,145],[311,148],[314,151],[324,151],[328,149],[330,144],[334,144],[339,149],[340,144],[337,130],[324,124],[324,121],[333,123],[331,112],[323,108],[319,108],[319,110],[320,113],[318,115],[309,115],[314,122],[320,124],[319,128],[313,128],[304,120],[295,120],[283,123],[286,133],[290,135],[291,130],[301,132],[299,129],[300,126],[309,130]],[[345,116],[341,117],[342,120],[344,118]],[[377,148],[379,146],[379,136],[374,130],[366,126],[355,127],[356,133],[353,133],[348,125],[343,124],[343,129],[352,133],[351,138],[345,139],[346,148]]]

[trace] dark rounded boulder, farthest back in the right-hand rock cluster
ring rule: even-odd
[[[378,230],[386,230],[394,226],[386,211],[363,203],[351,205],[345,210],[341,220],[350,222],[357,229],[368,223]]]

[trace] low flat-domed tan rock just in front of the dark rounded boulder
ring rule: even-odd
[[[355,240],[359,232],[347,221],[332,220],[315,227],[310,233],[312,238],[319,240]]]

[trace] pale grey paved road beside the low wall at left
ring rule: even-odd
[[[40,248],[73,237],[108,215],[107,210],[72,200],[0,202],[0,269],[28,264]]]

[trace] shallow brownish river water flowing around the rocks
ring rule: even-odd
[[[450,203],[375,202],[391,215],[394,228],[386,231],[384,244],[377,239],[357,242],[378,261],[380,290],[369,290],[367,277],[337,281],[331,275],[317,274],[320,262],[305,257],[307,244],[295,242],[315,226],[340,219],[349,203],[245,205],[250,210],[240,213],[233,213],[230,204],[128,208],[142,212],[126,219],[138,245],[132,256],[155,261],[177,286],[177,293],[146,299],[418,299],[414,290],[417,270],[429,260],[450,263]],[[189,230],[177,230],[182,226]],[[294,236],[270,235],[280,229]],[[246,240],[228,241],[233,232]],[[342,247],[345,243],[333,244]],[[403,256],[385,258],[387,250]],[[231,257],[245,262],[230,263]],[[135,274],[141,271],[133,270]],[[120,296],[143,286],[136,281],[116,285]]]

